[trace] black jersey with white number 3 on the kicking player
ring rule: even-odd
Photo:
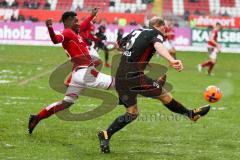
[[[119,42],[123,49],[116,76],[126,76],[129,72],[141,72],[152,58],[155,42],[162,43],[163,34],[156,29],[136,29]]]

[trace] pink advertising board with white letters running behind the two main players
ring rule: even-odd
[[[124,35],[130,33],[139,26],[125,26]],[[97,28],[97,26],[96,26]],[[62,24],[54,24],[54,30],[59,33],[63,29]],[[117,25],[108,25],[106,30],[107,42],[116,42]],[[177,46],[191,45],[191,29],[175,28],[175,39]],[[52,45],[48,30],[44,23],[0,23],[1,44],[22,44],[22,45]]]

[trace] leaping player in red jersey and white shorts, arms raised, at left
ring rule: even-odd
[[[51,19],[46,21],[49,35],[54,44],[62,43],[69,59],[73,64],[71,76],[67,80],[67,90],[63,100],[55,102],[43,108],[37,115],[30,115],[28,131],[31,134],[36,125],[43,119],[70,107],[78,99],[81,91],[85,88],[109,89],[114,87],[114,80],[111,76],[98,72],[94,67],[87,44],[83,41],[79,32],[87,29],[90,21],[96,16],[98,9],[94,8],[92,14],[81,24],[77,14],[67,11],[62,15],[64,30],[61,34],[55,34]]]

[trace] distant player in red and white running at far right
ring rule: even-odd
[[[216,64],[217,54],[220,52],[220,49],[221,49],[220,44],[217,42],[218,32],[221,30],[221,28],[222,28],[221,24],[216,23],[212,31],[212,34],[210,36],[210,39],[208,41],[207,49],[208,49],[209,59],[203,62],[202,64],[198,65],[199,72],[202,71],[202,68],[208,67],[208,75],[210,76],[212,75],[212,69]]]

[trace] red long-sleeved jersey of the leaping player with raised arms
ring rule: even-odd
[[[87,29],[92,18],[92,16],[89,16],[80,24],[81,32]],[[49,27],[48,31],[54,44],[62,43],[63,48],[73,63],[73,68],[78,66],[87,67],[93,64],[92,58],[89,55],[88,46],[79,34],[75,33],[70,28],[64,29],[59,35],[54,33],[52,27]]]

